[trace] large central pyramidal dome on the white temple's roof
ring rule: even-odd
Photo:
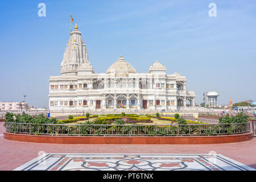
[[[121,55],[120,58],[109,67],[106,73],[117,73],[123,75],[129,73],[136,73],[136,70],[130,63],[123,59]]]

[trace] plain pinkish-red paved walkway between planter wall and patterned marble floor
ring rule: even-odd
[[[0,122],[0,135],[5,128]],[[216,154],[256,169],[256,138],[246,142],[197,145],[44,144],[6,140],[0,136],[0,170],[13,170],[40,154]],[[131,159],[132,160],[132,159]],[[135,160],[135,159],[134,159]]]

